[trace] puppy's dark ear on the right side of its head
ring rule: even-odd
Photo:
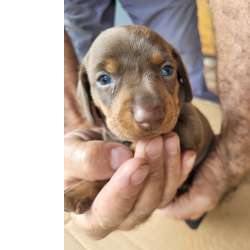
[[[173,56],[177,61],[178,70],[177,70],[177,77],[180,83],[180,98],[184,102],[191,102],[193,95],[191,84],[188,78],[187,70],[184,66],[184,63],[176,50],[173,49]]]

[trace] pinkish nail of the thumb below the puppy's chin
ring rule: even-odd
[[[111,167],[118,169],[122,163],[132,157],[131,152],[124,147],[116,147],[111,150]]]

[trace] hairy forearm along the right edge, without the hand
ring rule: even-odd
[[[223,110],[219,150],[232,173],[232,183],[237,183],[250,170],[249,1],[211,0],[211,5]]]

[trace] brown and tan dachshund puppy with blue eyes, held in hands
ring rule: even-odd
[[[191,104],[192,93],[176,50],[144,26],[110,28],[93,42],[80,69],[77,87],[82,115],[103,128],[100,139],[136,143],[178,133],[182,150],[197,152],[197,167],[207,154],[213,133]],[[86,140],[96,140],[86,130]],[[191,182],[180,188],[185,192]],[[65,210],[83,213],[105,181],[80,183],[65,190]]]

